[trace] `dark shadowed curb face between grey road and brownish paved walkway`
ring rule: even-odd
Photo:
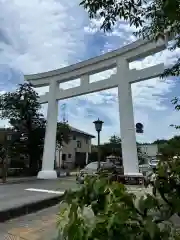
[[[57,205],[63,199],[63,196],[64,194],[0,211],[0,223]]]

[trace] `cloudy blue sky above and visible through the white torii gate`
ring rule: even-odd
[[[79,0],[0,0],[0,91],[12,91],[23,82],[23,74],[48,71],[70,65],[135,41],[133,28],[120,21],[111,34],[99,31],[101,19],[89,21]],[[143,61],[132,63],[133,68],[175,62],[180,50],[165,50]],[[93,81],[107,78],[110,72],[94,76]],[[64,84],[67,88],[79,80]],[[178,124],[180,113],[173,110],[170,100],[180,95],[176,79],[152,79],[132,85],[135,122],[144,124],[144,134],[138,141],[154,141],[179,134],[169,127]],[[39,94],[48,88],[37,89]],[[69,123],[81,130],[96,134],[93,121],[98,117],[105,123],[101,134],[107,141],[120,134],[117,89],[93,93],[59,102],[59,120],[62,104],[66,103]],[[42,106],[46,116],[47,106]],[[7,125],[1,120],[0,126]]]

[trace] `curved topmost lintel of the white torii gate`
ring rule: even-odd
[[[50,81],[53,80],[63,83],[77,79],[83,75],[92,75],[116,67],[117,58],[119,57],[132,62],[160,52],[165,48],[166,42],[161,39],[157,42],[140,39],[115,51],[77,64],[49,72],[25,75],[25,80],[31,82],[34,87],[48,86]]]

